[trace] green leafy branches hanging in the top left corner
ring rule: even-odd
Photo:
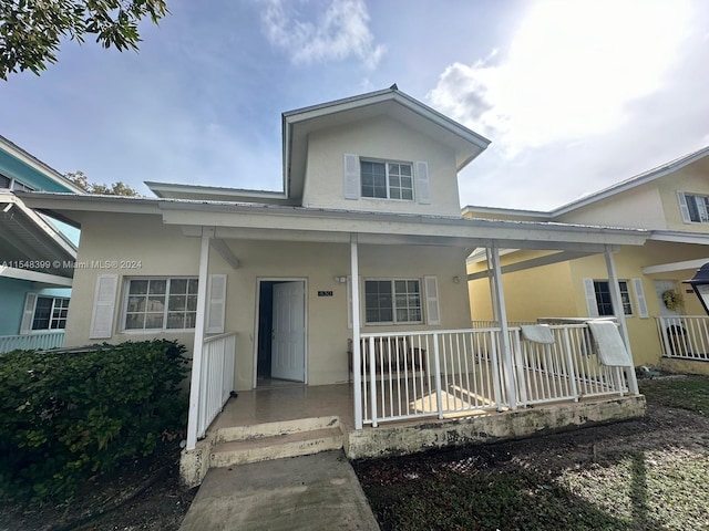
[[[62,39],[96,37],[103,48],[137,50],[137,23],[167,14],[165,0],[2,0],[0,79],[30,70],[39,75],[55,63]]]

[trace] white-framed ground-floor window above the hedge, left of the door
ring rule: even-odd
[[[197,279],[130,279],[125,330],[194,329]]]

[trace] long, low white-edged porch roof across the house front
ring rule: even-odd
[[[160,216],[164,223],[201,236],[203,228],[216,238],[290,241],[452,246],[465,249],[517,249],[603,252],[607,246],[641,246],[650,237],[644,229],[627,229],[543,221],[463,219],[459,217],[311,209],[282,205],[187,199],[78,196],[28,192],[32,208],[80,225],[84,212]]]

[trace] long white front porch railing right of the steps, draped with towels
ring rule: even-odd
[[[502,410],[513,391],[520,406],[628,393],[623,369],[598,363],[585,325],[551,329],[548,345],[510,329],[508,363],[499,327],[362,334],[363,424]]]

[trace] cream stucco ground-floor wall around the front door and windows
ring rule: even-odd
[[[150,236],[147,236],[150,235]],[[212,249],[209,274],[227,274],[225,332],[236,332],[235,388],[254,385],[258,337],[259,280],[302,280],[307,305],[307,381],[310,385],[333,384],[349,379],[347,339],[347,284],[335,277],[350,272],[350,246],[317,242],[225,240],[240,266],[233,269]],[[360,275],[367,278],[417,278],[436,275],[442,323],[439,329],[470,326],[467,292],[464,281],[464,251],[431,247],[359,247]],[[142,341],[152,337],[174,339],[192,351],[194,333],[124,331],[123,313],[126,280],[133,277],[197,277],[199,238],[183,236],[178,227],[163,225],[156,216],[86,215],[78,262],[140,262],[136,269],[79,268],[69,309],[66,346],[103,342],[90,339],[91,315],[100,274],[117,274],[112,337],[110,343]],[[332,292],[319,296],[318,292]],[[366,326],[364,331],[422,330],[410,326]]]

